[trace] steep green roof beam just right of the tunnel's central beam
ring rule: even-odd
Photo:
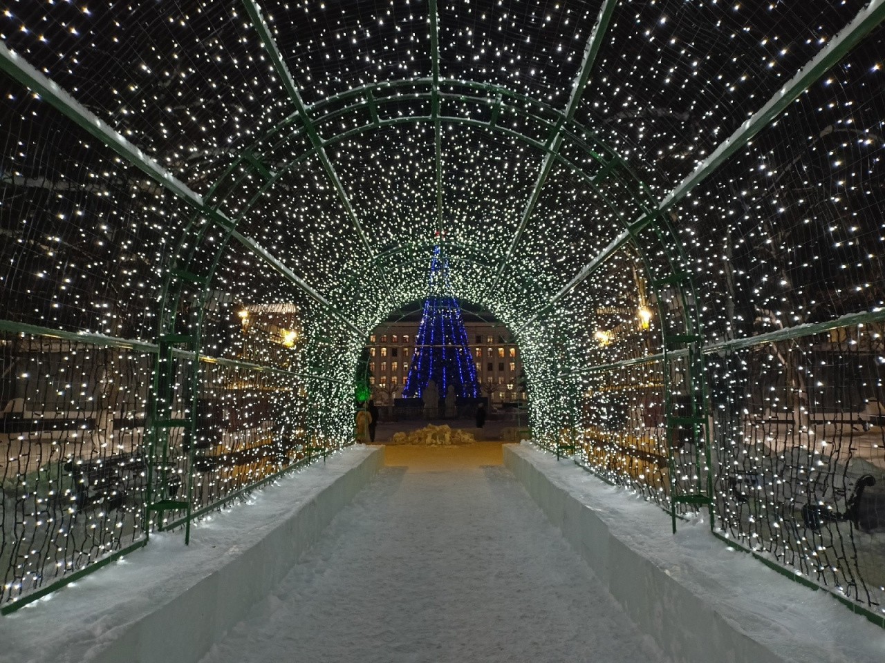
[[[434,2],[434,0],[431,0],[431,2]],[[599,49],[602,47],[605,33],[608,31],[609,23],[612,21],[612,13],[617,4],[618,0],[605,0],[602,9],[599,10],[599,15],[596,17],[596,25],[594,25],[593,30],[590,32],[589,39],[587,40],[587,47],[584,49],[584,57],[581,61],[578,75],[575,77],[572,94],[569,96],[568,103],[566,104],[566,110],[558,119],[557,127],[550,135],[549,141],[547,141],[547,154],[544,156],[541,171],[538,173],[538,179],[535,180],[535,188],[532,189],[532,194],[528,197],[526,209],[522,212],[522,218],[519,220],[519,225],[513,235],[510,247],[507,248],[507,253],[504,254],[504,258],[498,265],[495,280],[492,281],[492,285],[489,287],[489,291],[491,292],[495,291],[498,282],[504,275],[504,269],[506,269],[507,263],[509,263],[513,257],[516,245],[519,243],[522,233],[526,230],[528,220],[535,213],[535,207],[538,204],[538,200],[541,198],[541,190],[547,182],[547,178],[550,177],[550,171],[553,170],[553,164],[556,163],[556,156],[559,153],[559,149],[562,147],[562,141],[565,137],[563,134],[563,126],[573,120],[574,114],[577,112],[578,106],[581,104],[581,96],[587,88],[587,84],[590,80],[590,72],[593,71],[593,65],[596,63],[596,56],[599,53]]]

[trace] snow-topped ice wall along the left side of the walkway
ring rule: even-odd
[[[383,464],[351,446],[0,618],[0,659],[189,663],[265,598]]]

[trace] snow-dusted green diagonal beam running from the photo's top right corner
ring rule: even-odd
[[[743,149],[756,134],[770,125],[775,118],[778,118],[789,107],[790,103],[795,102],[815,81],[820,80],[826,72],[838,64],[883,19],[885,19],[885,0],[873,0],[864,9],[858,11],[858,15],[839,34],[836,34],[827,43],[827,46],[820,50],[817,56],[812,58],[811,62],[804,65],[762,108],[757,110],[743,125],[735,129],[735,132],[728,136],[725,141],[722,141],[720,146],[714,149],[710,156],[700,164],[697,164],[695,170],[687,178],[683,179],[678,187],[675,187],[673,191],[664,197],[660,202],[658,210],[644,213],[627,227],[627,230],[621,232],[602,252],[581,268],[581,271],[578,272],[575,278],[569,281],[558,293],[554,294],[548,303],[544,305],[543,309],[533,316],[531,322],[534,322],[539,316],[550,310],[567,293],[572,292],[576,286],[595,272],[612,255],[615,255],[637,233],[642,232],[653,224],[659,215],[673,209],[693,188],[703,182],[712,172],[716,171],[735,152]]]

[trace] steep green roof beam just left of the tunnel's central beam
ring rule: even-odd
[[[283,88],[286,89],[286,94],[289,95],[289,100],[295,105],[296,113],[298,117],[301,118],[301,122],[307,130],[308,138],[316,150],[319,162],[323,165],[323,170],[326,171],[326,175],[329,181],[332,182],[332,186],[335,187],[335,192],[338,194],[339,201],[341,202],[344,211],[347,213],[347,216],[350,217],[350,222],[353,224],[359,240],[363,243],[368,255],[370,257],[373,256],[374,251],[372,244],[369,242],[369,238],[366,235],[366,231],[363,229],[363,225],[359,222],[357,213],[353,210],[353,206],[350,204],[350,198],[348,197],[347,192],[344,191],[341,179],[338,178],[338,173],[335,171],[335,166],[332,165],[332,162],[326,153],[323,140],[319,137],[317,127],[311,119],[310,112],[308,112],[307,107],[304,105],[301,93],[298,92],[295,80],[292,78],[292,74],[289,72],[289,67],[282,58],[280,48],[277,46],[276,40],[273,39],[273,34],[271,34],[270,27],[267,26],[264,15],[258,7],[258,3],[256,3],[255,0],[242,0],[242,4],[246,9],[246,13],[249,14],[252,27],[255,28],[258,37],[265,46],[267,55],[271,58],[273,69],[280,77]],[[387,284],[387,275],[381,270],[380,276],[381,282]]]

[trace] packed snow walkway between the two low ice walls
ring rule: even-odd
[[[203,663],[666,660],[500,458],[489,443],[389,447]]]

